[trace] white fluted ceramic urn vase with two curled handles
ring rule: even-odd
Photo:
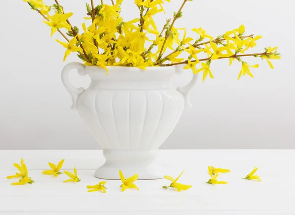
[[[194,75],[184,87],[172,88],[171,77],[178,67],[84,66],[71,62],[64,66],[61,80],[70,93],[73,105],[103,148],[106,162],[95,176],[119,179],[121,169],[126,177],[160,179],[164,172],[155,163],[158,148],[176,126],[184,108],[191,106],[189,93],[197,82]],[[71,69],[89,75],[87,90],[73,87],[68,79]]]

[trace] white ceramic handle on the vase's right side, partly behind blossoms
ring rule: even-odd
[[[183,69],[180,66],[176,66],[176,74],[182,74],[183,73]],[[194,74],[192,77],[192,80],[185,86],[183,87],[177,87],[177,91],[179,91],[183,97],[184,97],[184,108],[185,109],[189,109],[192,107],[192,104],[190,103],[190,93],[193,90],[193,88],[195,87],[195,85],[197,84],[199,78],[199,73]]]

